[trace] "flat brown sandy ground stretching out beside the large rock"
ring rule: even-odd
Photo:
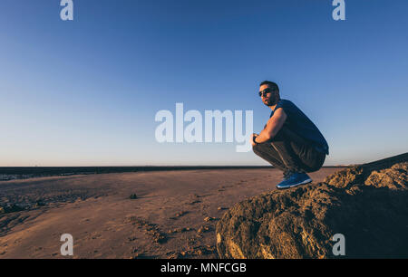
[[[310,176],[323,181],[339,169]],[[218,258],[219,218],[235,203],[275,189],[281,178],[277,169],[261,168],[1,182],[0,203],[25,203],[28,210],[0,215],[0,259],[66,258],[62,234],[73,235],[70,258]]]

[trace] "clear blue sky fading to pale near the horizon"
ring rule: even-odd
[[[408,2],[59,0],[0,4],[0,166],[266,165],[235,143],[160,144],[159,110],[270,110],[277,81],[325,165],[408,150]]]

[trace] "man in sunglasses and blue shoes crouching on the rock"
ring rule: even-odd
[[[293,102],[280,99],[275,82],[263,81],[259,96],[272,112],[265,129],[252,135],[254,153],[283,171],[284,179],[277,188],[312,182],[306,172],[319,170],[325,162],[325,138]]]

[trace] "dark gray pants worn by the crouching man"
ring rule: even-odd
[[[314,172],[325,162],[325,153],[295,132],[283,126],[275,138],[252,148],[254,153],[274,167],[287,172]]]

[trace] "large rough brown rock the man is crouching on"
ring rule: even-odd
[[[407,170],[405,153],[240,202],[217,224],[219,257],[408,258]]]

